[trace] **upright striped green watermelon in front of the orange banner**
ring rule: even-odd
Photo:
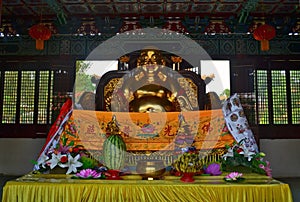
[[[108,169],[121,170],[125,164],[126,144],[121,135],[110,135],[103,143],[103,160]]]

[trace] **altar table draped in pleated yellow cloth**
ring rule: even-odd
[[[288,184],[264,177],[245,177],[243,182],[228,183],[222,176],[197,176],[184,183],[179,177],[163,180],[71,179],[61,175],[27,175],[8,181],[2,202],[60,201],[170,201],[170,202],[291,202]]]

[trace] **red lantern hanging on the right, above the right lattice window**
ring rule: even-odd
[[[253,32],[253,37],[260,41],[260,48],[262,51],[267,51],[270,49],[269,40],[273,39],[275,36],[275,28],[267,24],[259,26]]]

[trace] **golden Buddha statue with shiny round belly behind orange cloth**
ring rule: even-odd
[[[146,85],[133,92],[129,111],[145,113],[179,111],[176,96],[171,90],[156,84],[156,82],[164,83],[167,80],[167,75],[162,69],[165,65],[166,60],[160,51],[142,50],[137,59],[137,68],[141,71],[137,73],[135,80],[141,81],[146,78]]]

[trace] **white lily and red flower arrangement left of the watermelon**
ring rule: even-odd
[[[54,141],[53,146],[46,153],[42,153],[38,161],[33,163],[35,170],[41,173],[59,167],[66,169],[66,174],[70,174],[98,166],[98,161],[91,158],[83,146],[74,146],[74,141],[68,141],[66,137],[61,137],[61,141]]]

